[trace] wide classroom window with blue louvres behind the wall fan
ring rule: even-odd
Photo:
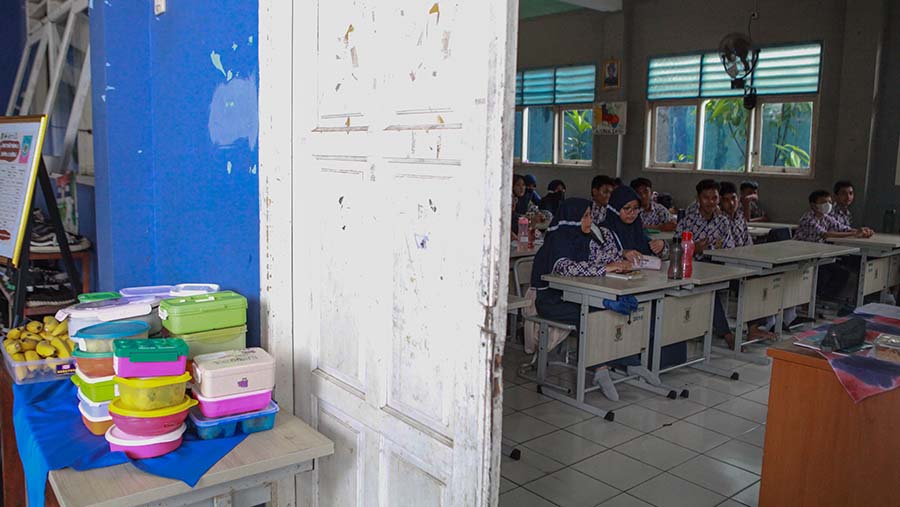
[[[716,53],[651,58],[645,166],[811,174],[821,59],[819,43],[761,48],[747,110]]]

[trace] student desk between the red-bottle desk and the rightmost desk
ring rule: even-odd
[[[815,316],[818,266],[858,251],[856,247],[795,240],[710,250],[708,255],[714,262],[757,270],[757,276],[742,279],[738,287],[734,355],[751,362],[768,362],[741,351],[744,323],[775,315],[775,332],[780,335],[785,308],[808,303],[809,315]]]

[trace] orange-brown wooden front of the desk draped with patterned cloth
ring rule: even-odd
[[[815,351],[773,345],[760,506],[900,505],[900,390],[860,403]]]

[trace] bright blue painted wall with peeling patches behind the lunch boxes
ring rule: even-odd
[[[259,334],[257,2],[91,11],[100,289],[216,282]]]

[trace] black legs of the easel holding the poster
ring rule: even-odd
[[[72,258],[72,251],[69,250],[69,240],[62,225],[62,218],[59,216],[56,194],[53,193],[50,175],[47,173],[47,166],[44,165],[43,158],[38,167],[38,182],[41,185],[44,201],[47,203],[47,208],[50,212],[50,222],[53,224],[53,229],[56,232],[56,241],[59,243],[59,250],[66,265],[66,273],[69,275],[69,285],[72,288],[72,294],[77,296],[81,287],[81,279],[75,270],[75,259]],[[25,298],[28,293],[28,269],[31,257],[31,221],[34,220],[34,214],[31,210],[28,209],[26,212],[28,213],[28,220],[25,224],[25,237],[22,239],[22,251],[19,253],[19,265],[16,266],[16,297],[13,303],[14,317],[12,326],[21,326],[25,323]]]

